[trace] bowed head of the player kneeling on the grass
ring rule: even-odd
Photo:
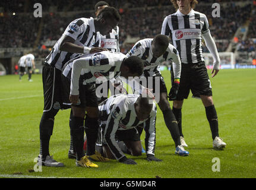
[[[140,97],[138,97],[137,101],[134,103],[137,118],[140,121],[147,119],[150,115],[152,107],[152,99],[150,97],[143,97],[140,95]]]

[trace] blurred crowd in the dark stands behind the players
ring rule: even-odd
[[[13,0],[14,1],[14,0]],[[43,43],[49,40],[58,40],[61,34],[66,29],[68,24],[80,17],[94,17],[94,5],[99,0],[92,1],[50,1],[39,0],[42,3],[43,11],[48,11],[48,14],[43,15],[41,34],[38,35],[40,29],[41,18],[34,18],[33,14],[17,14],[8,15],[7,17],[0,17],[2,30],[0,31],[0,48],[1,47],[33,47],[37,45],[39,50]],[[202,2],[202,1],[200,1]],[[211,2],[211,1],[204,1]],[[220,1],[212,1],[220,2]],[[223,0],[221,1],[223,2]],[[229,2],[226,7],[220,9],[220,18],[213,18],[211,12],[213,8],[209,5],[198,4],[195,11],[203,12],[207,15],[211,35],[216,40],[216,46],[219,52],[224,52],[229,45],[230,40],[239,26],[245,23],[250,18],[252,5],[240,7],[235,2]],[[175,8],[171,6],[170,1],[151,0],[151,1],[109,1],[110,5],[119,9],[122,20],[119,23],[119,44],[121,45],[121,52],[127,53],[132,44],[125,44],[127,37],[138,37],[139,39],[152,38],[161,32],[162,22],[166,15],[175,12]],[[12,11],[12,9],[24,11],[24,1],[15,0],[16,7],[6,6],[5,9]],[[0,6],[1,7],[1,6]],[[29,6],[31,7],[31,6]],[[51,12],[50,8],[55,7],[56,12]],[[74,13],[67,16],[62,11],[84,11],[83,13]],[[31,9],[33,11],[33,9]],[[255,12],[255,9],[252,11]],[[30,9],[27,8],[27,12]],[[256,37],[256,16],[251,17],[250,37]],[[37,39],[40,36],[40,39]],[[36,44],[35,42],[38,43]],[[251,41],[241,43],[239,50],[255,50],[255,44]],[[38,53],[41,56],[47,55],[47,50],[43,53]],[[207,48],[203,46],[203,50],[207,52]],[[46,52],[46,53],[45,53]]]

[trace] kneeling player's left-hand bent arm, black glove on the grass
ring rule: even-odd
[[[116,160],[125,164],[137,164],[136,162],[134,162],[134,160],[127,159],[127,157],[119,148],[118,143],[116,143],[115,134],[121,119],[122,114],[120,108],[118,106],[113,106],[108,117],[103,139],[106,141],[109,150],[116,158]]]

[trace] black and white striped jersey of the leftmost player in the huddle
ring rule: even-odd
[[[87,47],[100,46],[100,36],[95,31],[93,18],[78,18],[72,21],[45,59],[46,63],[60,70],[65,63],[79,54],[59,50],[65,35],[72,37],[75,40],[75,45]]]

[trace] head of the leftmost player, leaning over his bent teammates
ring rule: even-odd
[[[96,17],[96,23],[94,23],[95,29],[104,36],[110,33],[118,25],[120,20],[121,16],[115,8],[105,7]]]

